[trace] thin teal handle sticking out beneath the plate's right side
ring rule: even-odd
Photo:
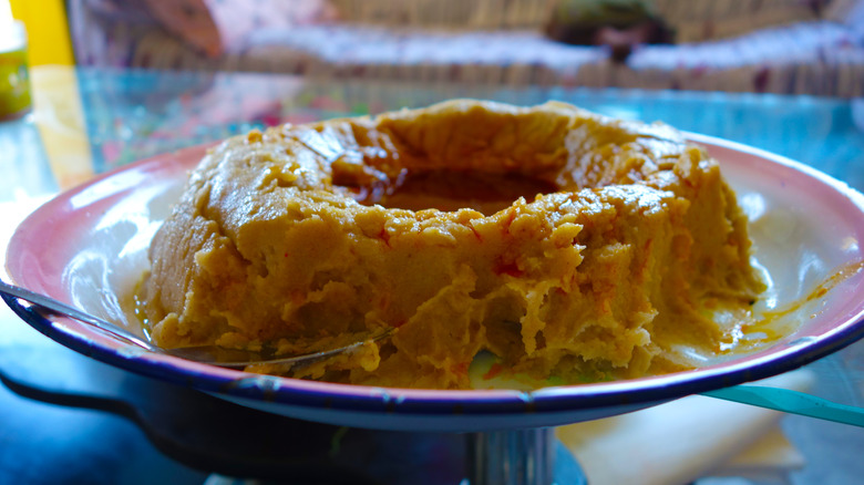
[[[782,388],[736,385],[702,395],[864,427],[864,409]]]

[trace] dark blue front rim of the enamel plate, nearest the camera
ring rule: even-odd
[[[864,314],[861,314],[837,332],[820,340],[819,345],[799,342],[789,345],[789,349],[783,352],[772,353],[770,358],[760,359],[755,363],[724,365],[716,371],[702,370],[647,378],[654,383],[649,388],[639,389],[634,385],[640,380],[627,380],[614,383],[551,386],[529,392],[435,390],[429,393],[436,395],[423,398],[411,395],[416,393],[414,390],[337,383],[322,383],[327,386],[323,392],[304,390],[295,385],[281,384],[281,381],[296,381],[294,379],[248,374],[240,371],[233,371],[238,373],[235,379],[220,378],[209,372],[193,372],[169,362],[154,363],[71,333],[58,327],[54,320],[22,305],[18,299],[8,296],[2,298],[22,320],[58,343],[83,355],[142,375],[205,392],[254,401],[415,415],[523,414],[650,404],[792,371],[864,338]],[[590,392],[584,392],[589,388]],[[356,392],[358,389],[364,391]]]

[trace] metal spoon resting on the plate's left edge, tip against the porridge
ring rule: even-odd
[[[47,297],[28,289],[9,285],[6,281],[0,280],[0,293],[14,298],[20,298],[24,301],[29,301],[38,307],[41,311],[50,312],[54,314],[61,314],[73,318],[82,323],[93,326],[112,337],[115,337],[124,342],[137,345],[144,350],[155,353],[163,353],[166,355],[174,355],[181,359],[186,359],[195,362],[218,365],[223,368],[243,369],[249,365],[260,364],[280,364],[280,365],[308,365],[326,358],[356,350],[367,342],[377,342],[381,339],[390,337],[393,333],[393,329],[384,329],[382,331],[370,333],[366,339],[349,345],[340,347],[337,349],[325,350],[320,352],[309,353],[305,355],[295,357],[278,357],[272,351],[250,352],[236,349],[225,349],[216,345],[199,345],[199,347],[186,347],[181,349],[163,349],[156,347],[142,337],[138,337],[107,320],[92,316],[85,311],[79,310],[75,307],[58,301],[51,297]]]

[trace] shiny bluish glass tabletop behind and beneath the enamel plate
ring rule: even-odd
[[[864,100],[337,83],[269,74],[65,68],[35,70],[33,82],[34,111],[22,118],[0,123],[0,173],[3,174],[0,240],[3,245],[17,221],[52,195],[94,174],[141,158],[214,142],[253,127],[424,106],[452,97],[490,99],[520,105],[558,100],[618,117],[662,120],[680,130],[788,156],[864,190]],[[95,398],[88,395],[94,376],[99,378],[102,392],[113,393],[114,398],[138,396],[146,394],[145,391],[168,392],[157,383],[125,375],[68,351],[37,334],[4,306],[0,309],[0,332],[3,336],[0,355],[6,355],[0,358],[0,375],[7,384],[6,389],[0,386],[0,409],[6,415],[0,421],[0,482],[223,483],[219,479],[227,479],[208,477],[202,472],[208,469],[206,458],[166,452],[176,443],[166,441],[158,426],[153,425],[153,420],[161,416],[158,410],[135,414],[130,410],[76,409],[99,410],[96,402],[100,405],[113,402],[111,399],[93,401]],[[809,368],[816,375],[810,390],[812,394],[843,404],[864,405],[864,342]],[[168,394],[173,399],[199,398],[181,391]],[[200,405],[208,406],[217,416],[222,412],[219,404],[210,401]],[[257,423],[259,417],[244,419]],[[204,417],[184,419],[194,422]],[[790,483],[816,479],[847,483],[864,474],[864,463],[860,460],[864,433],[860,429],[796,415],[784,416],[781,427],[806,461],[803,467],[786,475]],[[465,453],[462,437],[360,432],[349,432],[348,436],[346,450],[353,450],[357,456],[347,466],[353,466],[354,471],[374,469],[369,475],[376,478],[374,483],[459,483],[465,473],[457,465]],[[381,450],[390,450],[391,454],[382,452],[374,457],[358,454],[369,441]],[[327,447],[332,443],[316,446]],[[438,462],[430,458],[431,451]],[[388,462],[399,454],[404,455],[404,463],[395,466]],[[446,465],[442,465],[444,462]],[[577,472],[559,469],[568,463],[566,458],[557,462],[556,478],[562,482],[567,473],[576,476]],[[277,474],[285,469],[297,472],[300,466],[295,462],[282,464],[281,468],[279,464],[270,465]],[[718,477],[702,481],[722,483]],[[743,483],[760,482],[751,478]]]

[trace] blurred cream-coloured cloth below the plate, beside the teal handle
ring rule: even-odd
[[[806,391],[799,370],[760,385]],[[773,477],[804,465],[778,426],[783,413],[692,395],[667,404],[557,430],[590,485],[687,484],[704,476]]]

